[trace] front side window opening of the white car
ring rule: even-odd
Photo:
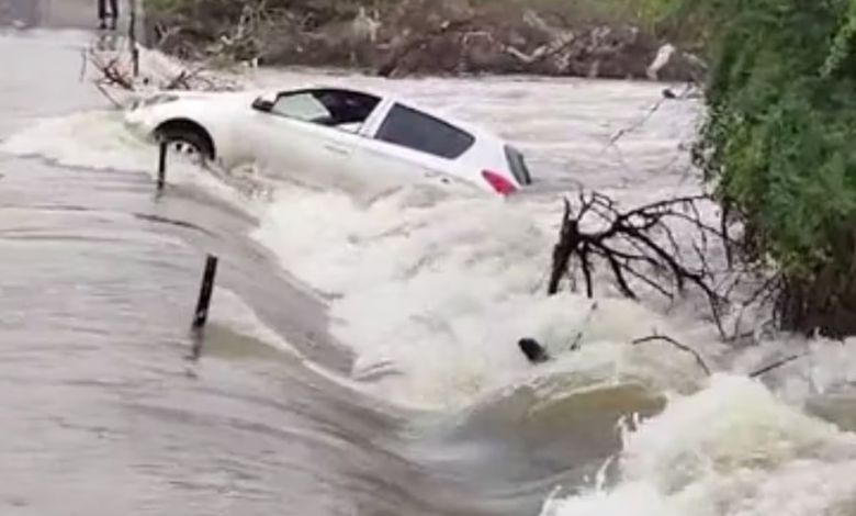
[[[315,89],[281,94],[271,112],[315,124],[358,131],[380,99],[356,91]]]

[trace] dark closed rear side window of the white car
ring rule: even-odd
[[[376,138],[448,159],[460,157],[475,143],[470,133],[402,104],[390,110]]]

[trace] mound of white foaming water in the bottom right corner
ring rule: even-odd
[[[759,383],[718,375],[627,435],[621,479],[552,498],[543,516],[853,514],[856,435]]]

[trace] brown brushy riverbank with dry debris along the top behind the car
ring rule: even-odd
[[[606,3],[604,3],[606,4]],[[372,75],[698,79],[692,56],[596,2],[148,0],[149,37],[184,58]]]

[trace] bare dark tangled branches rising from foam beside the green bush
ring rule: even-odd
[[[729,236],[702,220],[699,203],[706,201],[705,195],[683,197],[622,212],[612,199],[597,192],[581,193],[577,209],[565,199],[548,294],[556,294],[562,280],[573,278],[578,269],[586,295],[593,298],[598,265],[608,269],[630,299],[639,299],[640,284],[669,301],[694,287],[707,299],[724,336],[721,311],[725,298],[717,292],[708,256],[714,243],[725,244]],[[680,243],[674,228],[677,224],[691,231],[689,244]],[[587,229],[592,226],[596,228]]]

